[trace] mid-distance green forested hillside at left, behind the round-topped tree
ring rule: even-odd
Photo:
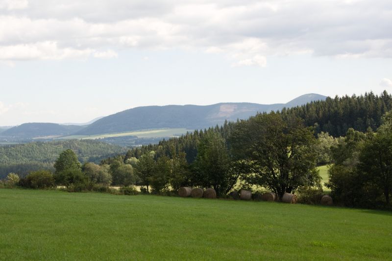
[[[31,142],[0,146],[0,180],[10,172],[25,175],[38,169],[52,169],[59,154],[75,151],[81,162],[99,162],[102,158],[124,153],[126,149],[97,140]]]

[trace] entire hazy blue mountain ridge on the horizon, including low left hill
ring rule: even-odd
[[[281,110],[313,101],[325,100],[319,94],[301,95],[286,104],[219,103],[212,105],[143,106],[127,109],[100,119],[89,125],[55,123],[25,123],[1,132],[0,136],[37,138],[68,135],[95,135],[133,130],[162,128],[204,129],[221,125],[225,120],[247,119],[257,112]]]

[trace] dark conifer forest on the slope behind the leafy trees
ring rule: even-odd
[[[369,127],[372,130],[377,130],[382,123],[382,116],[390,110],[392,110],[392,95],[384,91],[381,95],[369,92],[361,96],[353,95],[351,97],[335,97],[334,99],[328,97],[325,101],[283,109],[279,113],[286,119],[291,116],[302,118],[305,125],[315,127],[315,134],[325,131],[339,137],[344,136],[348,128],[362,132],[365,132]],[[226,122],[222,126],[212,129],[227,140],[237,124],[237,122]],[[185,152],[188,163],[191,163],[196,159],[197,144],[204,134],[203,131],[195,130],[181,137],[162,140],[159,144],[133,148],[123,157],[124,159],[140,157],[148,151],[155,151],[156,157],[162,155],[173,157],[173,153]]]

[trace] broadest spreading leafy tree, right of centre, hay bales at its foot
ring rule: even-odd
[[[316,138],[301,119],[257,114],[241,121],[230,137],[233,155],[248,183],[264,186],[282,198],[306,186],[320,186]]]

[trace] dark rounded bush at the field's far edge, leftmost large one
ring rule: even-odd
[[[50,188],[54,186],[54,178],[49,170],[38,170],[21,179],[19,184],[26,188]]]

